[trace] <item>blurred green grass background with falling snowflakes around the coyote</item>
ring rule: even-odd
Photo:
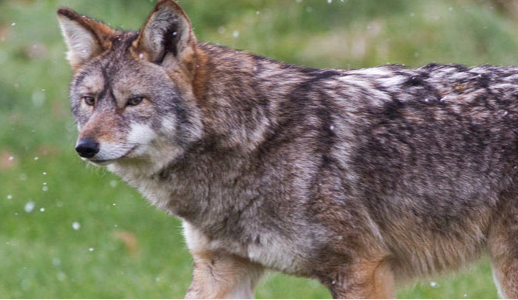
[[[139,29],[155,0],[0,0],[0,298],[178,298],[180,223],[74,153],[71,72],[55,11]],[[201,41],[316,68],[516,65],[518,1],[182,0]],[[402,298],[495,298],[487,258]],[[328,298],[272,273],[259,298]]]

